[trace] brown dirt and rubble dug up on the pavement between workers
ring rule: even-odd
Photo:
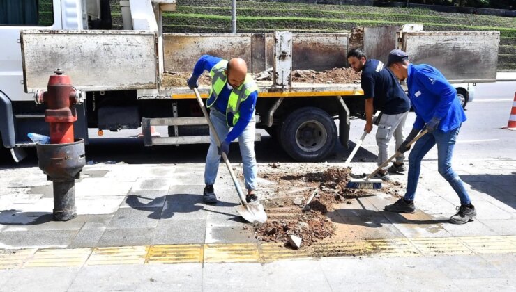
[[[324,240],[335,234],[335,227],[328,218],[338,204],[352,204],[351,199],[372,195],[372,190],[346,188],[349,168],[330,167],[326,169],[308,168],[303,165],[283,168],[279,163],[271,163],[270,168],[259,172],[259,177],[273,181],[273,195],[266,196],[261,203],[268,215],[264,224],[255,224],[256,238],[265,242],[288,245],[289,235],[301,237],[303,247]],[[402,186],[399,183],[384,184],[382,192],[397,195]],[[307,202],[310,197],[312,201]]]

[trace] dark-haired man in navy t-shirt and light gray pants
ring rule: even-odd
[[[384,68],[384,63],[379,60],[367,60],[360,49],[352,49],[347,54],[351,67],[361,74],[361,87],[365,97],[365,127],[364,131],[372,130],[372,117],[374,110],[381,111],[377,130],[378,165],[384,163],[388,157],[390,138],[396,140],[396,148],[404,141],[403,129],[407,115],[409,114],[410,101],[396,76]],[[397,156],[390,168],[382,168],[374,178],[388,181],[388,172],[403,172],[404,156]]]

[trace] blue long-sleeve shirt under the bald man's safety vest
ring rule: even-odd
[[[197,63],[195,63],[195,67],[193,70],[193,74],[196,76],[201,76],[204,70],[210,72],[213,66],[217,65],[222,60],[222,58],[209,56],[209,55],[203,55],[199,60],[197,60]],[[226,83],[226,86],[222,88],[222,91],[219,93],[217,101],[213,106],[220,111],[221,113],[226,113],[227,109],[227,102],[229,100],[229,95],[231,94],[233,88],[229,86],[228,83]],[[226,138],[224,139],[227,143],[231,143],[233,140],[238,138],[238,136],[243,133],[243,130],[245,127],[248,126],[252,115],[255,114],[255,105],[256,100],[258,98],[258,92],[252,92],[247,99],[245,99],[241,104],[239,108],[240,117],[238,118],[238,122],[234,124],[233,129],[227,133]]]

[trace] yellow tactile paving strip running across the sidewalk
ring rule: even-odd
[[[437,254],[516,253],[516,236],[393,238],[314,243],[291,250],[282,243],[141,245],[109,248],[6,250],[0,269],[155,263],[265,263],[308,257],[429,257]]]

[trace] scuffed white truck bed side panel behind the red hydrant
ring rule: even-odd
[[[155,88],[155,35],[149,31],[21,33],[25,91],[46,88],[59,68],[82,90]]]

